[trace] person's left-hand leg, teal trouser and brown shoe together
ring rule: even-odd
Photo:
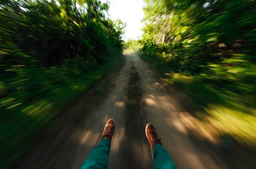
[[[81,169],[107,169],[112,136],[115,131],[115,121],[106,122],[101,136],[101,142],[95,147],[83,163]]]

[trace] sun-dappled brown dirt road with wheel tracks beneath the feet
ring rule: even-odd
[[[109,168],[152,168],[147,122],[155,125],[179,169],[221,168],[190,140],[175,98],[165,93],[149,66],[137,55],[125,57],[122,69],[112,73],[116,78],[106,84],[108,90],[100,88],[70,105],[16,168],[80,168],[109,118],[116,122]]]

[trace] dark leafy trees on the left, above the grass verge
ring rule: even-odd
[[[109,8],[106,3],[63,0],[58,5],[56,2],[2,4],[1,38],[14,42],[11,49],[22,49],[47,66],[77,56],[106,62],[111,50],[121,49],[122,23],[115,24],[105,17],[104,11]]]

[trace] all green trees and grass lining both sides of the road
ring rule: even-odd
[[[256,2],[144,2],[144,58],[159,63],[194,114],[216,118],[210,106],[224,106],[223,124],[237,124],[220,130],[255,155]],[[1,168],[121,54],[125,24],[108,9],[98,0],[0,1]]]

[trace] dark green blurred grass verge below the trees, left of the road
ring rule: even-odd
[[[46,127],[63,106],[90,89],[116,64],[115,60],[99,66],[81,62],[77,57],[51,68],[31,63],[8,69],[8,78],[0,81],[2,168],[9,168],[29,148],[38,131]]]

